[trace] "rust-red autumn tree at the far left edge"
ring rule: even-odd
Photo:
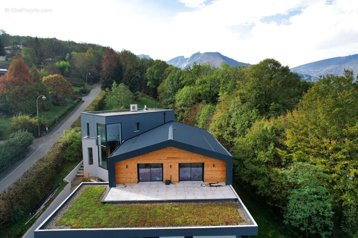
[[[0,93],[6,88],[15,86],[33,85],[34,79],[30,74],[29,68],[25,65],[22,58],[14,59],[9,67],[8,72],[0,78]]]

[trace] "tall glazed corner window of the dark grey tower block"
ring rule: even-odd
[[[107,158],[122,143],[121,123],[97,123],[98,135],[98,165],[107,169]]]

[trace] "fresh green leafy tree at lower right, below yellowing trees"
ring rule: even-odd
[[[332,197],[319,181],[328,179],[318,166],[293,163],[282,171],[290,184],[285,223],[308,234],[330,237],[333,228]]]

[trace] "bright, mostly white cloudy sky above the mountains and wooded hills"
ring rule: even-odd
[[[3,9],[1,9],[3,8]],[[0,29],[168,61],[220,52],[295,67],[358,54],[358,0],[5,1]]]

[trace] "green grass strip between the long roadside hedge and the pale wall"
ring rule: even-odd
[[[59,186],[57,192],[55,193],[54,197],[57,196],[62,189],[66,186],[67,183],[63,182],[63,179],[67,176],[67,174],[69,172],[72,171],[72,169],[74,167],[76,167],[76,165],[79,163],[78,162],[73,162],[73,163],[68,163],[66,164],[66,166],[64,166],[63,170],[61,173],[58,173],[54,179],[54,181],[52,182],[52,186],[57,186],[57,184],[61,183],[61,185]],[[53,199],[54,199],[53,197]],[[48,204],[50,204],[53,200],[51,200]],[[45,209],[42,211],[44,212]],[[30,211],[26,211],[24,216],[17,222],[13,222],[10,223],[11,226],[6,226],[2,229],[0,229],[0,237],[22,237],[25,232],[35,223],[35,221],[37,220],[37,218],[40,216],[40,214],[37,215],[37,217],[34,217],[27,225],[25,225],[25,223],[33,216],[33,215],[29,215]]]

